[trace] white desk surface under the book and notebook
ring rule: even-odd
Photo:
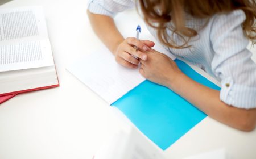
[[[108,104],[65,70],[102,45],[90,28],[86,1],[14,0],[0,8],[32,5],[45,9],[60,87],[20,94],[0,105],[0,158],[91,158],[122,125]],[[206,118],[165,153],[183,158],[218,148],[232,158],[256,158],[256,131],[237,131]]]

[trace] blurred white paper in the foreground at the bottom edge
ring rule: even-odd
[[[126,123],[124,123],[126,124]],[[94,159],[164,159],[163,151],[131,127],[114,134],[96,153]]]

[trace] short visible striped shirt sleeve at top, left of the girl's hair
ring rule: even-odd
[[[94,14],[114,17],[118,12],[135,7],[133,0],[89,0],[88,10]]]

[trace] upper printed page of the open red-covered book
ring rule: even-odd
[[[3,41],[48,39],[42,7],[0,10],[0,44]]]

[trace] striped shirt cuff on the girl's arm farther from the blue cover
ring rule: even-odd
[[[88,10],[94,14],[101,14],[101,15],[106,15],[110,17],[114,17],[114,12],[110,12],[106,10],[100,3],[97,3],[93,0],[88,2]]]

